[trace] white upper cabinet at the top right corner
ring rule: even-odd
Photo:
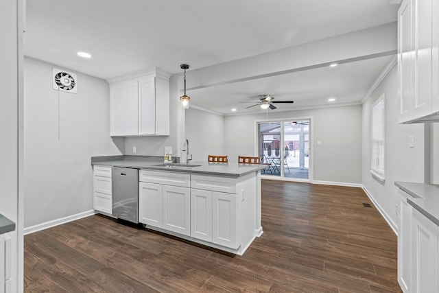
[[[439,121],[439,0],[404,0],[398,11],[399,123]]]

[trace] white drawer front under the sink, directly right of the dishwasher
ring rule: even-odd
[[[140,170],[139,181],[171,186],[191,187],[191,175],[178,172]]]

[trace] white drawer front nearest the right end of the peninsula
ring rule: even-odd
[[[211,191],[226,192],[228,194],[237,193],[237,178],[215,177],[215,176],[191,176],[191,188],[204,189]]]

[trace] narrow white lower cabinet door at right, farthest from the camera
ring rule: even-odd
[[[399,202],[398,283],[404,293],[411,292],[412,206],[405,198]]]

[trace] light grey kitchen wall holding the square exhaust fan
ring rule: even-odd
[[[109,136],[107,82],[75,72],[77,94],[55,91],[52,89],[53,68],[62,69],[25,58],[26,228],[91,211],[91,156],[123,153],[123,139],[112,140]]]

